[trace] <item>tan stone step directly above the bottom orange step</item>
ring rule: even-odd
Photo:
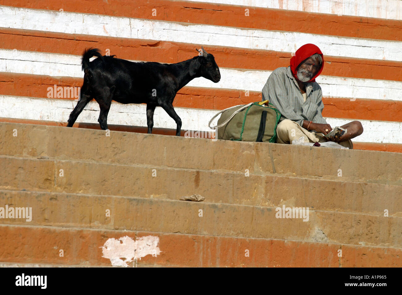
[[[277,218],[273,207],[27,191],[0,191],[0,204],[32,208],[31,220],[2,218],[2,224],[402,248],[402,218],[382,214],[309,210],[304,216]]]

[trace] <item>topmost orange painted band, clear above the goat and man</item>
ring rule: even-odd
[[[0,0],[0,5],[402,41],[400,34],[402,23],[399,20],[202,2],[172,0],[144,2],[143,0],[94,0],[88,3],[83,3],[82,0]],[[245,8],[249,10],[249,16],[246,16]],[[153,9],[156,9],[156,16],[152,15]]]

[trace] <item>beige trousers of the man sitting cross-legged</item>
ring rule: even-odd
[[[304,142],[326,142],[328,141],[322,133],[309,132],[295,121],[285,119],[277,126],[277,143],[291,143],[295,139],[304,136]],[[353,149],[352,140],[338,142],[341,146]]]

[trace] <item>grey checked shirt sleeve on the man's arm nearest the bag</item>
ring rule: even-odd
[[[269,75],[267,83],[265,83],[263,90],[263,100],[269,100],[286,119],[295,121],[303,126],[304,118],[293,111],[287,92],[285,90],[285,74],[277,74],[274,72]]]

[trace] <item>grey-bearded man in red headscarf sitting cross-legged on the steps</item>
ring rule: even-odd
[[[324,67],[324,58],[314,44],[300,47],[289,67],[279,67],[268,77],[263,88],[263,101],[269,100],[281,112],[277,126],[277,143],[291,143],[304,136],[305,142],[338,142],[353,149],[351,138],[363,133],[359,121],[340,126],[347,133],[339,138],[326,138],[332,128],[322,118],[322,91],[316,82]],[[312,131],[310,131],[312,130]]]

